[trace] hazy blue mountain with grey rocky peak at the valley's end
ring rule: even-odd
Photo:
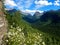
[[[37,20],[39,20],[39,18],[42,14],[43,13],[35,12],[35,14],[33,16],[31,14],[28,14],[24,17],[24,19],[29,23],[33,23],[33,22],[36,22]]]

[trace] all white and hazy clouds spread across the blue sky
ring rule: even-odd
[[[36,11],[42,13],[43,11],[38,10],[40,7],[48,5],[60,6],[60,0],[55,0],[53,3],[49,2],[48,0],[16,0],[16,3],[14,2],[14,0],[5,0],[4,4],[9,5],[10,7],[16,6],[17,8],[26,13],[35,13]],[[31,7],[32,4],[35,7]],[[29,8],[33,8],[33,10],[29,10]]]

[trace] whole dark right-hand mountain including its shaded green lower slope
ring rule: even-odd
[[[32,23],[32,27],[45,33],[60,37],[60,10],[45,12],[39,20]]]

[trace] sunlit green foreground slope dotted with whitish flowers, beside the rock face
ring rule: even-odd
[[[13,14],[6,14],[8,33],[3,38],[4,45],[60,45],[60,39],[57,36],[46,33],[45,28],[48,30],[48,26],[41,27],[45,30],[43,32],[38,22],[32,27],[31,24],[21,18],[22,14],[18,11]]]

